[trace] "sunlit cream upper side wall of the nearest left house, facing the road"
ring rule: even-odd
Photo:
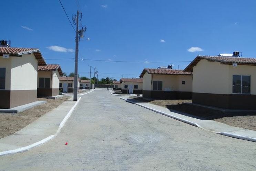
[[[33,54],[11,58],[10,90],[37,90],[38,61]]]

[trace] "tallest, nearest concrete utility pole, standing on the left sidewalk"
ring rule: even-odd
[[[74,78],[74,101],[77,101],[77,70],[78,70],[78,19],[79,11],[76,14],[76,35],[75,35],[75,78]]]

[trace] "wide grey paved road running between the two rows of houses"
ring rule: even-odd
[[[0,170],[255,171],[256,143],[204,131],[96,89],[82,97],[55,139],[0,157]]]

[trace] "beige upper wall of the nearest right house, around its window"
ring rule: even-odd
[[[193,93],[232,94],[233,75],[250,75],[250,92],[256,94],[256,66],[233,67],[207,60],[193,67]]]

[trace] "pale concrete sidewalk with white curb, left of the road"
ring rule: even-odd
[[[1,138],[0,156],[27,151],[52,139],[63,127],[79,100],[72,101],[70,98],[23,129]]]

